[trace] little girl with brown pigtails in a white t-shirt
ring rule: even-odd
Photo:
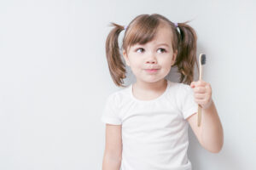
[[[193,28],[160,14],[141,14],[127,27],[113,26],[106,42],[113,82],[125,87],[125,64],[136,82],[108,96],[102,114],[106,123],[103,170],[192,169],[187,156],[189,125],[206,150],[219,152],[224,137],[212,88],[207,82],[192,82],[197,63]],[[125,64],[118,45],[123,30]],[[181,73],[180,82],[165,78],[171,66]],[[201,127],[197,127],[198,105]]]

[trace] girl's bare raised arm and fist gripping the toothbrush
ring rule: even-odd
[[[194,88],[195,102],[202,107],[201,127],[197,127],[196,114],[188,118],[190,127],[205,149],[218,153],[224,144],[224,132],[212,100],[212,87],[204,81],[192,82],[190,87]]]

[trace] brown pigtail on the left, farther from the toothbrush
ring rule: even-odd
[[[124,26],[119,26],[115,23],[111,23],[110,26],[114,26],[113,30],[110,31],[106,41],[106,55],[108,60],[108,69],[110,71],[110,75],[113,79],[113,82],[117,86],[124,87],[123,79],[125,76],[125,65],[121,59],[121,55],[119,52],[119,33],[123,31]]]

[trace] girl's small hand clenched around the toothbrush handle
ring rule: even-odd
[[[190,87],[194,90],[195,103],[201,105],[202,109],[207,109],[212,105],[211,85],[204,81],[191,82]]]

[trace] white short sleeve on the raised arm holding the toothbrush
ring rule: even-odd
[[[190,86],[187,84],[183,84],[182,91],[183,99],[181,101],[181,110],[183,113],[183,118],[187,119],[189,116],[198,111],[198,105],[195,103],[193,88],[190,88]]]

